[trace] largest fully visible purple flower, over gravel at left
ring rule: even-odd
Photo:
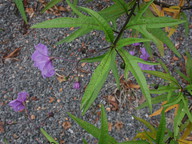
[[[35,46],[35,52],[32,54],[34,66],[41,71],[43,78],[51,77],[55,74],[51,58],[48,56],[48,49],[46,45],[38,44]]]

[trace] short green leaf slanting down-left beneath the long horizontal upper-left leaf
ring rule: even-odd
[[[75,32],[73,32],[72,34],[70,34],[68,37],[57,42],[56,44],[59,45],[59,44],[65,43],[65,42],[66,43],[72,42],[74,39],[76,39],[80,36],[83,36],[83,35],[89,33],[90,31],[91,31],[91,29],[88,29],[87,27],[81,27],[78,30],[76,30]]]

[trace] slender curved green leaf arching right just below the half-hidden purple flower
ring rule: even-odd
[[[160,78],[162,78],[164,80],[168,80],[171,83],[177,85],[178,88],[180,88],[180,85],[179,85],[178,81],[174,77],[172,77],[170,74],[163,73],[163,72],[158,72],[158,71],[149,71],[149,70],[143,70],[143,72],[146,72],[148,74],[160,77]]]

